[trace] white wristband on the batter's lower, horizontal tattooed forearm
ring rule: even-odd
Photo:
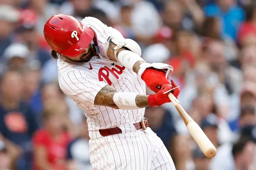
[[[117,92],[113,96],[114,103],[122,110],[141,109],[136,105],[135,99],[137,93]]]

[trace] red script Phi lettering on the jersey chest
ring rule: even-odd
[[[104,78],[109,84],[109,86],[111,86],[112,84],[111,80],[109,79],[109,72],[113,74],[117,79],[119,79],[118,75],[121,75],[123,73],[123,70],[125,69],[124,66],[121,67],[115,63],[112,63],[111,65],[113,65],[114,67],[113,68],[109,68],[107,66],[101,67],[99,69],[99,74],[98,74],[99,80],[103,81],[103,78]]]

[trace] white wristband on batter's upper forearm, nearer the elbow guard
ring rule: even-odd
[[[137,62],[137,61],[143,61],[145,62],[145,60],[143,60],[138,54],[129,51],[129,50],[123,50],[121,51],[118,56],[117,56],[118,61],[125,66],[126,68],[128,68],[129,70],[133,70],[133,65]]]

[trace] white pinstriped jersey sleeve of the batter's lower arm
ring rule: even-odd
[[[60,74],[59,85],[63,93],[86,111],[98,107],[94,105],[95,97],[107,83],[92,79],[85,71],[73,70]]]

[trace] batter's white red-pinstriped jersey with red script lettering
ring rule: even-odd
[[[95,31],[99,49],[102,50],[102,45],[108,39],[104,33],[107,26],[94,17],[85,17],[82,23]],[[87,63],[72,64],[60,57],[58,77],[61,90],[85,111],[88,117],[88,130],[94,131],[129,122],[139,122],[144,116],[145,108],[120,110],[94,105],[95,96],[107,84],[118,92],[146,94],[145,82],[139,79],[135,72],[117,62],[100,55],[100,57],[93,57]]]

